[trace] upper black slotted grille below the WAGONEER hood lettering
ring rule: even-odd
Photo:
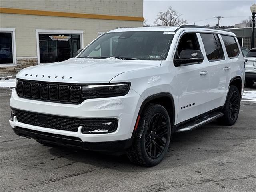
[[[20,97],[52,102],[82,102],[82,86],[37,81],[18,80],[17,92]]]

